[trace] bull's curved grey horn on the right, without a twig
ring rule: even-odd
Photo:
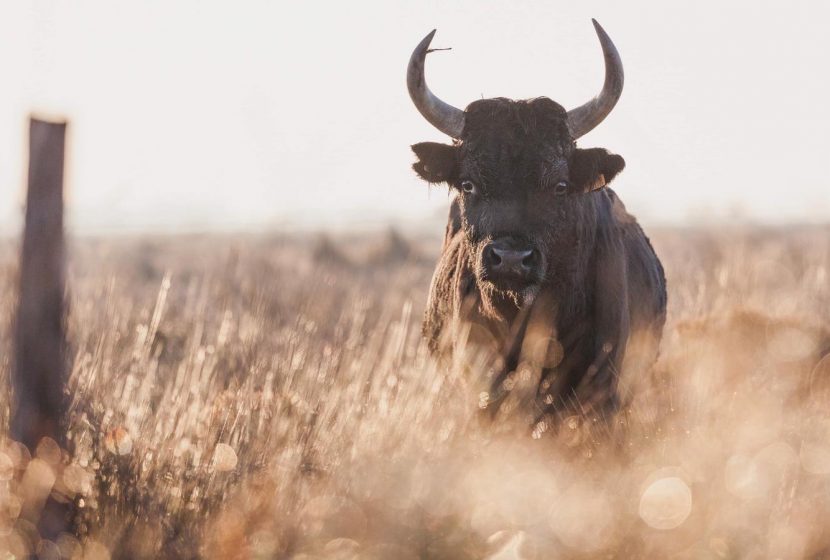
[[[602,45],[602,54],[605,56],[605,83],[598,96],[568,111],[568,128],[574,140],[593,130],[608,116],[622,94],[624,81],[622,60],[620,60],[617,47],[597,20],[591,19],[591,21],[594,22],[594,29]]]

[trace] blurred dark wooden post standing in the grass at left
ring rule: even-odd
[[[67,405],[64,392],[67,376],[63,240],[65,133],[65,123],[37,119],[30,122],[29,184],[15,318],[10,431],[13,439],[33,453],[43,438],[51,438],[62,448],[66,444],[63,433]],[[53,451],[49,456],[54,461],[54,443],[50,446]],[[23,515],[38,526],[41,536],[53,539],[70,524],[71,506],[55,502],[49,495],[48,480],[54,480],[52,473],[59,465],[46,466],[46,462],[34,461],[30,465],[22,483]]]

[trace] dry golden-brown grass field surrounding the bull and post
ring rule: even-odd
[[[654,374],[519,431],[421,344],[438,238],[74,241],[71,455],[3,443],[0,558],[830,558],[830,229],[652,238]],[[37,536],[50,493],[79,539]]]

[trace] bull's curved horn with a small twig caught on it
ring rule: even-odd
[[[412,51],[409,67],[406,69],[406,87],[409,89],[409,97],[412,98],[415,107],[432,126],[447,136],[460,138],[461,133],[464,132],[464,111],[435,97],[429,91],[426,79],[424,79],[424,61],[427,53],[430,52],[429,44],[434,35],[435,29]]]

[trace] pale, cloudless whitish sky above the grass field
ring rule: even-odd
[[[626,73],[583,147],[621,154],[646,223],[830,219],[830,4],[33,1],[0,4],[0,232],[21,222],[27,115],[71,121],[73,232],[429,224],[448,197],[409,145],[446,141],[406,92],[438,28],[433,91],[464,107]]]

